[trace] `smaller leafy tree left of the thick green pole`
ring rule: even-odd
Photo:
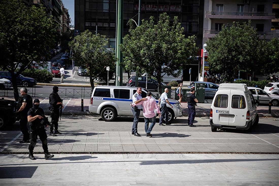
[[[107,81],[107,66],[110,67],[109,79],[112,78],[111,72],[114,72],[116,67],[115,53],[105,48],[107,44],[108,39],[105,35],[96,36],[89,30],[85,30],[69,42],[76,66],[88,69],[92,90],[95,78],[102,82]]]

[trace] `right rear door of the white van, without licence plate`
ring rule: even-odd
[[[245,95],[234,93],[231,90],[231,101],[229,103],[230,117],[229,126],[245,126],[246,125],[246,113],[247,105]]]

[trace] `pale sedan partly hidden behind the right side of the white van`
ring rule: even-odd
[[[269,104],[269,102],[271,102],[272,106],[277,107],[279,106],[279,96],[276,94],[270,94],[267,93],[266,91],[262,90],[261,88],[257,88],[257,87],[247,87],[250,92],[252,93],[252,95],[254,96],[255,100],[258,100],[258,96],[259,96],[259,103],[263,103],[263,104]]]

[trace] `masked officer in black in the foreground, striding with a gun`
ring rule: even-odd
[[[37,143],[37,137],[40,137],[40,140],[42,141],[42,146],[45,153],[45,159],[53,158],[54,155],[49,154],[48,148],[47,148],[47,134],[45,133],[45,126],[48,127],[48,120],[44,115],[44,110],[42,108],[39,108],[40,101],[38,99],[34,100],[34,105],[32,108],[28,111],[28,122],[30,123],[30,138],[31,142],[28,147],[29,149],[29,158],[31,160],[36,160],[36,158],[33,156],[33,150]]]

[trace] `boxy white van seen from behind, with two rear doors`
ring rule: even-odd
[[[210,110],[211,131],[228,128],[248,130],[258,122],[256,101],[246,84],[220,84]]]

